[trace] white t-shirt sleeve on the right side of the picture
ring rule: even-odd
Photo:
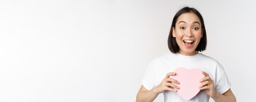
[[[228,76],[226,75],[224,68],[218,62],[217,69],[216,69],[216,92],[220,94],[225,93],[228,89],[231,88],[231,83],[228,80]]]

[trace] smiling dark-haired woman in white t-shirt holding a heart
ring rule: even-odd
[[[163,93],[165,102],[185,102],[178,94],[179,80],[170,78],[178,67],[199,68],[205,75],[198,86],[199,93],[186,102],[208,102],[209,97],[216,102],[235,102],[231,83],[221,66],[212,57],[202,52],[206,49],[206,30],[202,15],[195,9],[184,7],[173,18],[168,47],[170,52],[158,56],[150,62],[143,77],[136,102],[152,102]],[[166,74],[167,73],[167,74]]]

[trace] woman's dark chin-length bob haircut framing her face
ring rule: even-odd
[[[204,27],[204,20],[202,15],[195,9],[195,8],[190,8],[190,7],[183,7],[182,9],[180,9],[175,16],[173,17],[173,22],[172,22],[172,26],[170,29],[170,33],[169,33],[169,37],[168,37],[168,48],[172,53],[177,53],[179,51],[179,45],[176,42],[175,37],[173,37],[173,27],[175,29],[175,24],[177,22],[178,17],[183,14],[183,13],[194,13],[197,15],[197,17],[200,19],[201,21],[201,28],[204,29],[203,32],[203,37],[200,39],[199,44],[197,45],[197,48],[195,49],[196,52],[200,51],[204,51],[206,49],[206,43],[207,43],[207,39],[206,39],[206,30]]]

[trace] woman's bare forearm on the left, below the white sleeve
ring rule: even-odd
[[[136,102],[153,102],[158,93],[155,91],[156,88],[153,88],[149,91],[139,92],[136,96]]]

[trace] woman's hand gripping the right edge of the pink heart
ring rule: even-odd
[[[203,82],[200,86],[199,89],[200,90],[204,90],[204,92],[209,95],[211,98],[216,97],[217,96],[217,92],[214,88],[214,82],[213,80],[211,80],[211,78],[209,77],[209,74],[207,74],[206,72],[202,71],[202,74],[205,75],[204,78],[202,78],[199,82]]]

